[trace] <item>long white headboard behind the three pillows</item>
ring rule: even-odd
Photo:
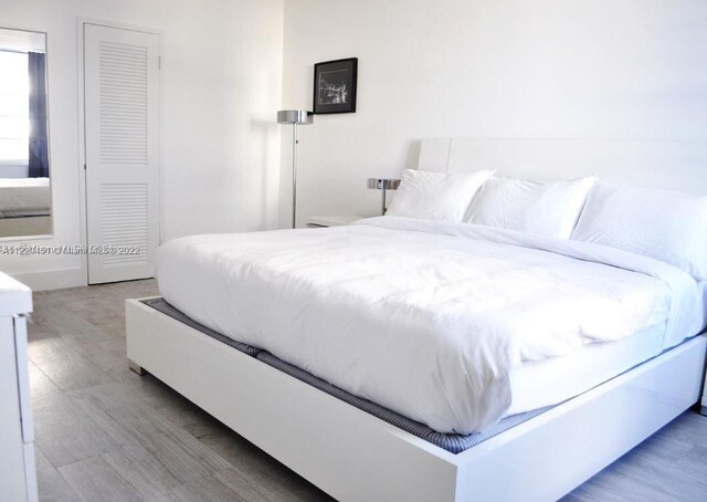
[[[594,174],[613,184],[707,195],[707,142],[428,138],[422,140],[418,168],[492,168],[496,176],[527,179]]]

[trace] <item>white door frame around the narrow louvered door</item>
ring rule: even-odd
[[[165,133],[162,124],[165,123],[165,98],[163,98],[163,84],[165,84],[165,72],[163,72],[163,54],[165,54],[165,32],[161,29],[156,28],[146,28],[136,24],[129,24],[117,21],[108,21],[105,19],[96,19],[96,18],[85,18],[77,17],[76,18],[76,83],[77,83],[77,102],[78,102],[78,165],[76,169],[78,170],[78,216],[80,216],[80,236],[81,243],[83,245],[88,245],[88,208],[86,206],[86,114],[85,114],[85,85],[84,85],[84,67],[85,67],[85,57],[84,57],[84,24],[96,24],[98,27],[105,28],[116,28],[119,30],[128,30],[128,31],[139,31],[141,33],[150,33],[159,35],[159,55],[160,55],[160,71],[159,71],[159,148],[158,148],[158,191],[159,191],[159,243],[162,243],[163,239],[163,215],[165,215],[165,195],[163,195],[163,184],[162,184],[162,159],[165,158]],[[84,278],[84,283],[88,285],[88,255],[85,255],[81,261],[81,274]]]

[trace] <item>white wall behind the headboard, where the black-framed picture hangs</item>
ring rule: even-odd
[[[376,212],[366,178],[423,137],[707,140],[705,27],[703,0],[287,0],[284,107],[312,109],[314,63],[359,57],[357,113],[302,128],[298,212]]]

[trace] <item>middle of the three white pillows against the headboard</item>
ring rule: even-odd
[[[492,178],[465,220],[569,239],[593,184],[593,176],[563,181]]]

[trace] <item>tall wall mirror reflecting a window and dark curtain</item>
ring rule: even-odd
[[[52,233],[46,34],[0,28],[0,238]]]

